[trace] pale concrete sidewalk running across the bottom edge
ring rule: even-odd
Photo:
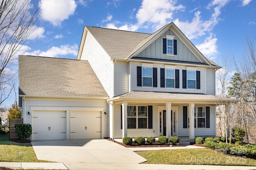
[[[252,170],[256,166],[220,166],[220,165],[167,165],[167,164],[118,164],[118,163],[29,163],[0,162],[0,167],[12,169],[58,169],[58,170]]]

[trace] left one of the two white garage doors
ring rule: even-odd
[[[33,111],[33,140],[66,139],[66,111]]]

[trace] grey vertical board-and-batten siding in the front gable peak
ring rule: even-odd
[[[166,38],[166,35],[175,36],[174,39],[177,40],[177,55],[170,56],[163,53],[163,39]],[[136,57],[201,63],[171,29],[168,29],[164,34],[158,37],[158,39],[148,45],[148,47],[136,55]]]

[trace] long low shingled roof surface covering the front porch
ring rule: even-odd
[[[169,92],[141,92],[141,91],[132,91],[120,96],[116,96],[109,100],[118,100],[118,99],[144,99],[144,100],[186,100],[186,101],[210,101],[210,102],[230,102],[232,99],[223,98],[214,95],[206,94],[187,94],[187,93],[169,93]]]

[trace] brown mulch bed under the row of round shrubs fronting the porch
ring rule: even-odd
[[[125,145],[121,142],[115,141],[113,139],[108,139],[109,141],[118,143],[119,145],[122,145],[126,148],[150,148],[150,147],[185,147],[183,145],[172,145],[171,143],[168,144],[161,144],[159,142],[154,143],[145,143],[144,145],[139,145],[138,143],[132,142],[132,145]]]

